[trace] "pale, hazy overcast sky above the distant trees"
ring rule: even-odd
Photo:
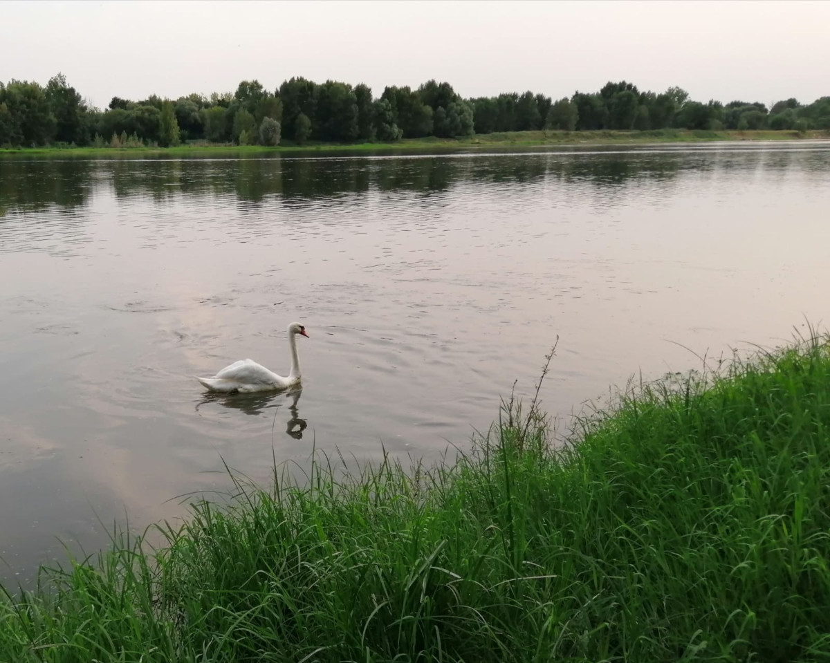
[[[464,97],[679,85],[694,100],[830,95],[830,2],[0,2],[0,80],[58,71],[100,108],[291,76]]]

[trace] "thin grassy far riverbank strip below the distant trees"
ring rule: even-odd
[[[383,152],[391,150],[443,150],[443,149],[503,149],[588,145],[633,145],[700,143],[718,141],[805,140],[828,139],[830,132],[807,131],[690,131],[686,129],[659,129],[654,131],[515,131],[502,134],[481,134],[462,139],[439,139],[434,136],[422,139],[403,139],[395,143],[319,143],[305,145],[283,144],[276,148],[262,145],[188,144],[172,148],[74,148],[48,147],[25,149],[0,149],[2,155],[38,155],[60,157],[100,158],[123,155],[166,157],[246,156],[280,153],[315,152]]]

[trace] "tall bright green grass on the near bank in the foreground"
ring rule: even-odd
[[[0,601],[0,661],[830,660],[828,337],[578,430],[511,399],[452,464],[236,478]]]

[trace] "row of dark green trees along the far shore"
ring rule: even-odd
[[[105,110],[82,99],[58,74],[46,86],[0,82],[0,146],[51,144],[133,147],[181,143],[277,145],[383,141],[553,129],[830,129],[830,96],[809,105],[795,99],[706,103],[671,87],[660,94],[609,82],[596,93],[552,100],[527,91],[462,99],[449,83],[429,80],[417,90],[388,86],[375,98],[368,85],[334,80],[286,80],[266,90],[243,80],[234,93],[177,100],[113,97]]]

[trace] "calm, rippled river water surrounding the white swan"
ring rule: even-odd
[[[0,159],[0,578],[313,444],[465,445],[698,353],[822,323],[830,146],[362,158]],[[296,397],[206,397],[251,357]]]

